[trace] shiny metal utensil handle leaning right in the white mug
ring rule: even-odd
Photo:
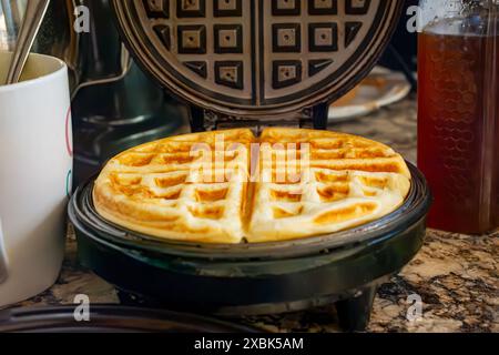
[[[34,39],[45,17],[50,0],[28,0],[28,6],[19,31],[18,41],[7,74],[7,84],[13,84],[21,79]]]

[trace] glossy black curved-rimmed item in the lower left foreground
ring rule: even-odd
[[[163,310],[92,305],[89,322],[75,307],[23,307],[0,312],[0,333],[256,333],[242,325]]]

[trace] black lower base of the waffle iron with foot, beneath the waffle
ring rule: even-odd
[[[414,168],[399,210],[329,236],[268,245],[169,243],[101,220],[92,183],[73,195],[69,216],[82,264],[119,290],[125,304],[220,316],[266,315],[336,304],[345,331],[367,326],[377,287],[420,250],[430,193]]]

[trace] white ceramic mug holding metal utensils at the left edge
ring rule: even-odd
[[[72,133],[68,69],[30,55],[20,83],[4,83],[0,52],[0,307],[54,284],[64,255]]]

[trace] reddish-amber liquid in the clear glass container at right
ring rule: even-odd
[[[499,97],[490,84],[499,82],[499,36],[442,30],[419,34],[418,165],[435,197],[428,222],[483,233],[499,226]]]

